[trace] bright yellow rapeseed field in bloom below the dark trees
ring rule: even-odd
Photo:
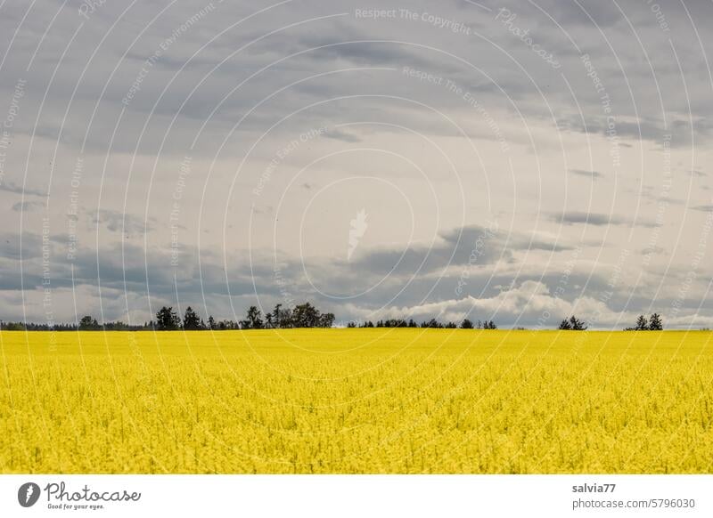
[[[0,333],[3,473],[710,473],[713,334]]]

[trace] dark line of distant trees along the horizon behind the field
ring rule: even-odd
[[[77,323],[33,323],[33,322],[4,322],[0,320],[0,329],[5,331],[224,331],[231,329],[291,329],[291,328],[333,328],[334,313],[320,312],[314,305],[305,303],[297,304],[292,308],[275,305],[272,312],[261,312],[257,306],[250,306],[243,320],[215,320],[209,315],[208,320],[193,310],[191,306],[185,309],[183,317],[179,316],[173,307],[163,306],[156,312],[156,319],[143,322],[143,325],[129,325],[122,321],[104,322],[100,324],[91,315],[82,317]],[[342,327],[342,326],[340,326]],[[414,319],[388,319],[356,321],[350,320],[347,328],[436,328],[436,329],[497,329],[493,320],[472,321],[463,319],[460,322],[441,322],[437,319],[423,320],[421,323]],[[524,328],[517,328],[524,329]],[[561,323],[558,329],[562,331],[586,331],[584,320],[579,320],[575,315],[570,316]],[[659,313],[653,313],[650,318],[639,315],[635,326],[624,328],[625,331],[660,331],[663,330],[663,321]]]

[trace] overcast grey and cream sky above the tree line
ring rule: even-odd
[[[713,4],[0,3],[0,320],[713,326]]]

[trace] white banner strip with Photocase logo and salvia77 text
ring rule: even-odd
[[[0,516],[713,516],[713,475],[2,475]]]

